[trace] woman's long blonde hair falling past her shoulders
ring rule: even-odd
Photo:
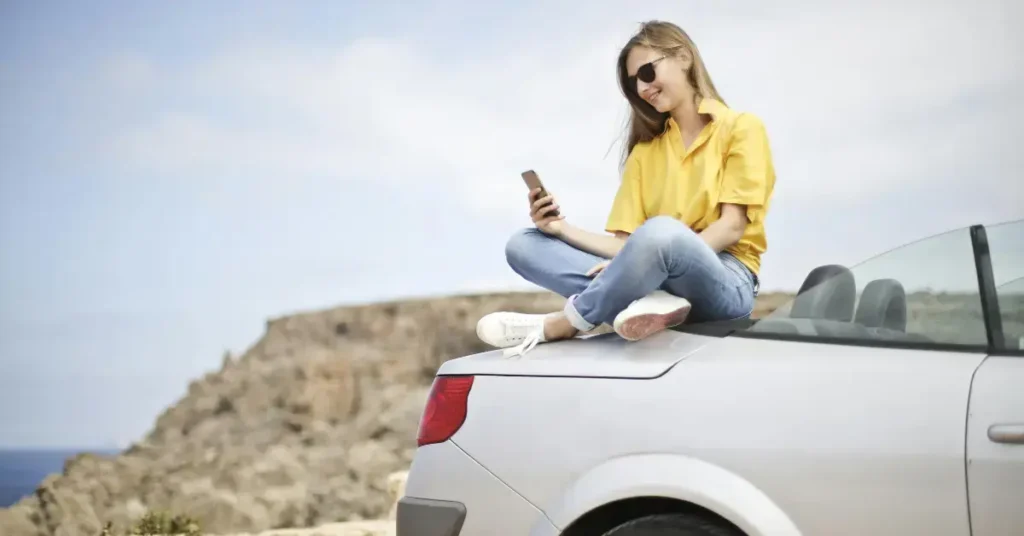
[[[626,99],[630,102],[629,126],[626,130],[626,146],[623,151],[623,164],[629,158],[630,153],[637,143],[650,141],[665,131],[665,123],[669,120],[668,113],[658,113],[654,107],[637,94],[636,86],[630,86],[629,73],[626,70],[626,60],[630,51],[638,46],[650,48],[665,53],[666,55],[678,57],[682,52],[687,52],[692,58],[689,72],[686,73],[686,80],[693,88],[699,98],[714,98],[725,102],[722,96],[715,89],[715,84],[708,74],[697,45],[693,43],[690,36],[682,28],[663,20],[649,20],[640,26],[640,31],[636,33],[623,47],[618,53],[618,87],[622,89]]]

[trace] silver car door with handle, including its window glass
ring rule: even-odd
[[[971,388],[968,493],[974,536],[1006,536],[1024,533],[1024,222],[985,232],[980,279],[995,296],[995,347]]]

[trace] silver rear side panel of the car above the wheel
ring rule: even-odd
[[[984,358],[728,337],[653,380],[478,377],[453,441],[559,526],[588,472],[654,453],[738,476],[805,535],[967,536],[965,427]]]

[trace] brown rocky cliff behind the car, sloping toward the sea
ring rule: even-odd
[[[759,314],[779,296],[762,296]],[[208,533],[386,518],[387,476],[407,468],[437,367],[480,352],[476,320],[548,312],[550,293],[339,307],[272,320],[240,358],[194,381],[116,457],[81,455],[0,510],[3,536],[92,536],[146,510]]]

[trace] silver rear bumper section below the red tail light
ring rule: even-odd
[[[403,496],[464,504],[461,536],[557,534],[540,509],[452,442],[417,450]]]

